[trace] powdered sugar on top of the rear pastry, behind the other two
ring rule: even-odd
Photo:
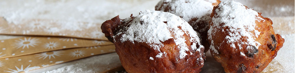
[[[197,20],[192,21],[193,23],[190,23],[190,25],[196,26],[193,28],[201,32],[207,32],[207,28],[200,29],[196,23],[203,21],[207,23],[211,20],[212,3],[216,3],[216,0],[162,0],[156,5],[155,9],[180,16],[187,22],[196,18]]]

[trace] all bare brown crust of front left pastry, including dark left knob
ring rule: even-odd
[[[133,19],[131,18],[130,21]],[[122,22],[123,21],[123,22]],[[107,20],[102,24],[102,31],[109,41],[116,41],[116,52],[119,55],[120,61],[124,69],[129,73],[198,73],[203,67],[204,60],[198,58],[205,58],[204,48],[201,48],[201,52],[194,51],[190,47],[192,41],[189,41],[189,35],[184,34],[186,38],[186,44],[189,45],[189,51],[186,53],[192,53],[186,55],[183,59],[179,59],[179,48],[177,48],[174,39],[168,39],[164,42],[163,47],[160,48],[161,52],[165,52],[165,57],[153,58],[159,51],[155,51],[153,47],[145,42],[124,41],[121,42],[120,38],[123,34],[117,35],[117,29],[124,29],[123,26],[127,26],[129,22],[119,19],[119,16]],[[119,27],[118,27],[119,26]],[[178,27],[181,28],[181,27]],[[113,35],[116,38],[113,39]],[[174,36],[173,36],[174,37]],[[199,48],[199,46],[197,46]]]

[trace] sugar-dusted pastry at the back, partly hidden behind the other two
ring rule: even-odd
[[[161,0],[155,10],[175,14],[187,21],[198,32],[206,52],[209,50],[207,31],[210,14],[213,6],[219,3],[219,0]]]

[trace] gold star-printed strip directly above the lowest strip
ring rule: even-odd
[[[66,48],[102,46],[113,44],[109,41],[76,39],[66,37],[27,36],[15,39],[0,40],[0,59],[21,55],[55,51]]]

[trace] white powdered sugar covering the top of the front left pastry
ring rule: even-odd
[[[126,20],[128,19],[130,18]],[[113,37],[116,38],[117,35],[122,34],[120,41],[145,42],[155,51],[160,51],[160,47],[164,46],[162,42],[174,39],[180,49],[180,59],[187,55],[186,51],[189,51],[184,34],[189,35],[189,40],[194,42],[195,45],[200,45],[199,48],[192,47],[194,51],[200,51],[200,48],[204,47],[199,43],[199,37],[192,27],[182,18],[171,13],[146,10],[146,12],[140,12],[128,25],[129,27],[125,27],[126,31],[119,31]],[[178,27],[181,27],[181,29]],[[161,58],[165,54],[165,52],[160,51],[156,58]]]

